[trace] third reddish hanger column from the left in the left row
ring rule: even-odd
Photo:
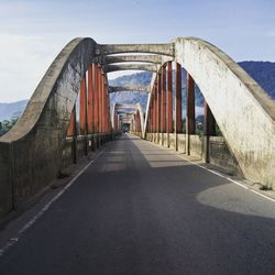
[[[89,134],[92,134],[95,132],[94,94],[95,94],[94,72],[92,72],[92,66],[90,66],[88,68],[88,133]]]

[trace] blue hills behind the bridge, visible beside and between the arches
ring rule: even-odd
[[[275,100],[275,63],[271,62],[240,62],[239,65],[251,75],[266,92]],[[132,75],[125,75],[116,79],[109,80],[111,86],[147,86],[151,84],[152,73],[143,72]],[[186,72],[183,69],[183,106],[186,102]],[[198,87],[196,87],[196,105],[204,106],[204,97]],[[140,91],[121,91],[110,95],[110,101],[138,103],[140,102],[145,110],[147,103],[147,95]],[[12,103],[0,103],[0,121],[11,119],[12,117],[20,117],[28,103],[28,100],[20,100]],[[197,108],[197,114],[202,112],[202,108]]]

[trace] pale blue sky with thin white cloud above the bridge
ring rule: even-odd
[[[275,1],[0,0],[0,102],[30,98],[56,55],[80,36],[107,44],[197,36],[237,62],[275,62]]]

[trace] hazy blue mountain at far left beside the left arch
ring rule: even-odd
[[[0,121],[19,118],[23,113],[28,101],[25,99],[12,103],[0,103]]]

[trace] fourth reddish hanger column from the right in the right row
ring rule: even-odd
[[[167,63],[167,121],[166,121],[166,132],[167,132],[167,146],[170,146],[169,133],[173,132],[173,100],[172,100],[172,62]]]

